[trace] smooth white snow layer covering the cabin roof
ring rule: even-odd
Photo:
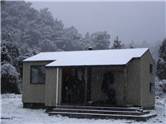
[[[133,58],[140,58],[148,48],[41,52],[24,60],[53,61],[51,66],[124,65]]]

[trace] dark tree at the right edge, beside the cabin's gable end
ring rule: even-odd
[[[159,49],[157,62],[157,75],[159,79],[166,79],[166,39],[163,40]]]

